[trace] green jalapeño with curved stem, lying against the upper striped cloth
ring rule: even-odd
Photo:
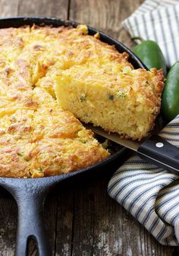
[[[146,65],[147,68],[163,69],[166,76],[167,66],[159,45],[152,40],[143,40],[141,37],[133,37],[132,40],[141,40],[142,43],[133,48],[133,52]]]

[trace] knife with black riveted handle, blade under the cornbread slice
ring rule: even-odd
[[[85,127],[102,137],[108,138],[110,141],[114,141],[137,152],[144,160],[148,160],[163,169],[167,169],[169,172],[179,175],[179,148],[170,144],[159,135],[152,134],[152,136],[144,141],[132,141],[121,139],[119,134],[108,133],[102,128],[91,124],[85,124]]]

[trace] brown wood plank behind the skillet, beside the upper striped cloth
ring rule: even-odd
[[[143,0],[72,0],[70,20],[88,24],[130,46],[130,38],[122,28],[124,21]]]

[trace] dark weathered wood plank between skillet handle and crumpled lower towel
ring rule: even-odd
[[[80,185],[74,195],[73,256],[171,256],[106,194],[108,179]]]

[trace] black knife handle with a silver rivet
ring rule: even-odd
[[[137,150],[140,156],[163,169],[179,174],[179,148],[158,135],[152,135]]]

